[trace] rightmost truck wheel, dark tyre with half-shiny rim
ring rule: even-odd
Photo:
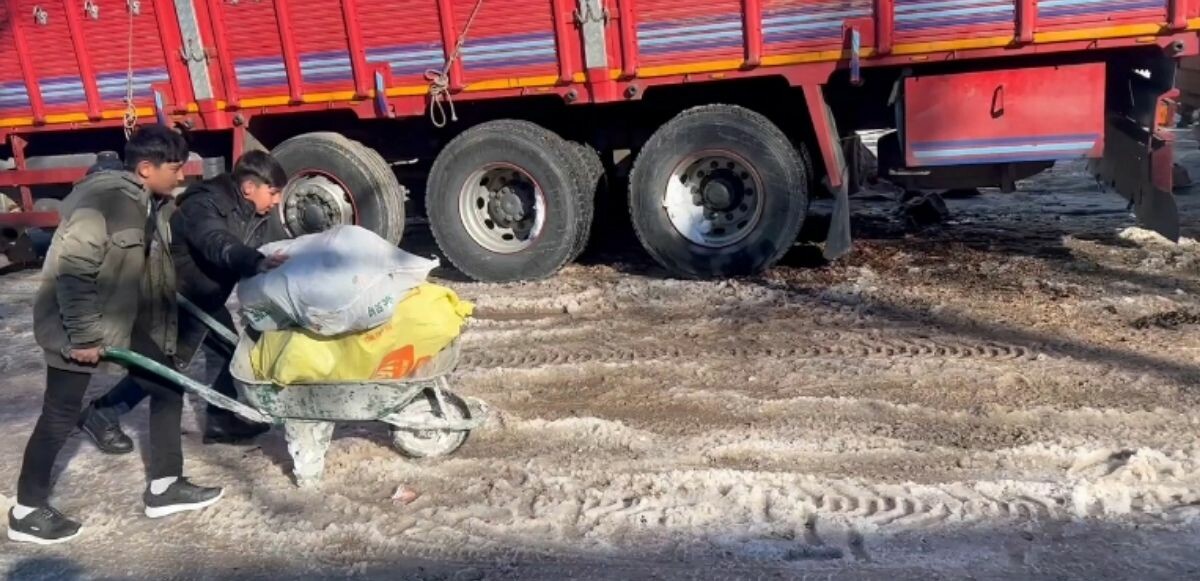
[[[758,274],[796,242],[808,212],[804,161],[767,118],[733,106],[680,113],[629,176],[642,246],[685,277]]]

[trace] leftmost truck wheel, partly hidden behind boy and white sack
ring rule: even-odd
[[[271,155],[290,180],[280,204],[289,236],[358,224],[400,244],[407,190],[374,150],[322,132],[293,137]]]

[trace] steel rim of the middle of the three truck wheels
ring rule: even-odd
[[[475,244],[497,254],[515,254],[541,235],[546,196],[528,172],[491,163],[467,178],[458,193],[458,216]]]

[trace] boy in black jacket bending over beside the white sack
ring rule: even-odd
[[[263,151],[248,151],[238,160],[232,174],[197,182],[181,193],[170,224],[175,233],[170,247],[179,277],[180,294],[227,329],[233,317],[226,303],[242,278],[270,270],[286,260],[282,256],[263,256],[257,247],[282,238],[282,230],[270,220],[287,185],[287,173]],[[176,358],[186,366],[208,335],[203,323],[180,312]],[[214,389],[236,399],[238,390],[229,372],[228,347],[210,341],[210,361],[221,365]],[[116,384],[79,417],[79,427],[102,451],[128,454],[131,439],[120,425],[120,415],[146,396],[132,381]],[[269,426],[241,420],[215,406],[205,412],[205,443],[236,443],[253,438]]]

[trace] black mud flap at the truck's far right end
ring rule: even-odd
[[[1104,157],[1092,161],[1097,179],[1129,200],[1142,228],[1177,242],[1180,211],[1172,193],[1172,136],[1146,130],[1128,118],[1111,116],[1104,140]]]

